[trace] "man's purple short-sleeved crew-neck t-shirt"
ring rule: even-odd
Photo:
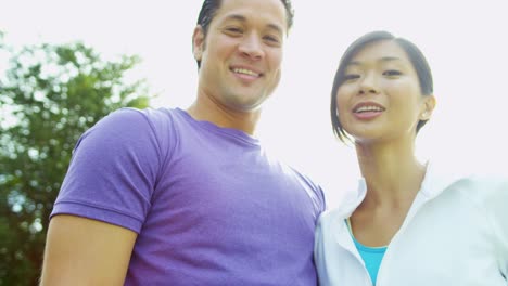
[[[316,285],[319,186],[246,133],[123,108],[76,144],[51,216],[138,233],[126,285]]]

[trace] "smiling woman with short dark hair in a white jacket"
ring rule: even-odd
[[[331,95],[333,131],[354,144],[363,178],[319,218],[320,285],[507,286],[508,182],[452,176],[415,155],[435,106],[421,51],[367,34],[342,56]]]

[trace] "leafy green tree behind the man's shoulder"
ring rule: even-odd
[[[0,285],[37,285],[49,214],[79,135],[150,98],[144,80],[127,80],[137,56],[105,61],[79,42],[13,51],[1,32],[0,52],[11,58],[0,73]]]

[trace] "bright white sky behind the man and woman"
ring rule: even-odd
[[[195,96],[191,35],[201,0],[2,1],[8,43],[81,40],[101,53],[139,54],[136,73],[160,93],[153,106],[188,106]],[[346,46],[386,29],[417,43],[433,69],[437,107],[418,154],[453,169],[508,174],[508,17],[503,0],[293,0],[295,24],[281,83],[264,108],[258,136],[323,185],[329,205],[356,187],[355,153],[329,120],[332,77]],[[0,70],[2,66],[0,55]]]

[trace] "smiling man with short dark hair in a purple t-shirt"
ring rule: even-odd
[[[289,1],[204,1],[195,102],[124,108],[80,138],[42,285],[316,285],[322,192],[252,136],[291,23]]]

